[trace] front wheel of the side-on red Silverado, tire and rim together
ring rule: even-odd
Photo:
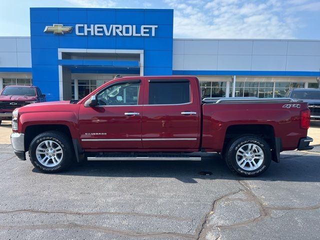
[[[43,172],[65,170],[70,165],[72,156],[73,146],[69,138],[59,131],[42,132],[30,143],[30,161]]]

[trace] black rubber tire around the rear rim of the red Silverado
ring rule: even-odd
[[[255,158],[255,156],[252,156],[254,155],[254,152],[252,155],[250,155],[252,158],[245,158],[250,156],[244,155],[244,157],[242,158],[243,159],[242,162],[241,162],[242,160],[241,156],[237,155],[237,151],[239,150],[239,148],[243,146],[243,149],[245,149],[245,147],[249,146],[247,144],[250,144],[250,143],[258,146],[257,148],[260,148],[263,151],[263,160],[260,163],[258,158]],[[252,152],[248,152],[248,154],[250,153]],[[246,152],[244,152],[243,154],[246,154]],[[244,158],[248,160],[244,160]],[[263,140],[261,137],[258,137],[256,135],[245,135],[245,136],[241,136],[241,137],[230,140],[229,144],[225,148],[224,159],[227,166],[230,168],[232,172],[245,177],[253,177],[253,176],[260,175],[268,168],[271,162],[271,150],[268,143],[265,140]],[[240,161],[241,164],[246,162],[245,165],[243,166],[244,168],[249,168],[253,163],[252,161],[254,161],[256,165],[259,165],[259,164],[260,165],[253,170],[249,170],[249,169],[242,168],[237,161]]]

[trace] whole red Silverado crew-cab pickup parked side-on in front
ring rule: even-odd
[[[307,103],[290,98],[201,100],[194,76],[115,78],[77,101],[13,111],[11,143],[43,172],[83,160],[200,160],[220,152],[256,176],[282,150],[311,149]]]

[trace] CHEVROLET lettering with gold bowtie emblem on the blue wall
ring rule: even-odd
[[[118,24],[75,24],[75,34],[79,36],[154,36],[157,25],[118,25]],[[139,29],[139,31],[137,31]],[[63,26],[63,24],[53,24],[46,26],[44,32],[53,32],[54,34],[63,34],[71,32],[72,26]]]

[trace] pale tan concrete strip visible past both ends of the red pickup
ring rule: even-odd
[[[0,144],[10,144],[11,121],[2,121],[0,125]],[[320,145],[320,121],[312,121],[308,136],[313,138],[311,145]]]

